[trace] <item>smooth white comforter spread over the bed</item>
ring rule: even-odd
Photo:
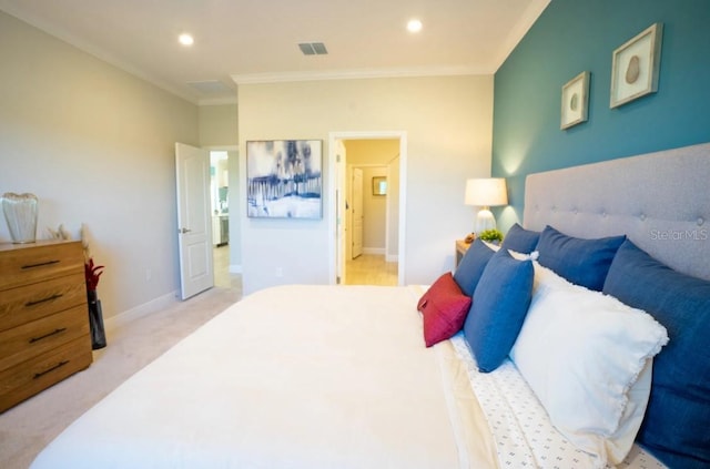
[[[230,307],[61,434],[42,468],[489,468],[416,287],[283,286]]]

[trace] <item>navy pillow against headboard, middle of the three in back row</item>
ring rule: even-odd
[[[537,262],[572,284],[601,292],[613,255],[625,239],[625,235],[582,239],[546,226],[537,244]]]

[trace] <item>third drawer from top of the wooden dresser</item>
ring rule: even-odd
[[[84,304],[0,332],[0,370],[82,336],[90,350],[88,317]]]

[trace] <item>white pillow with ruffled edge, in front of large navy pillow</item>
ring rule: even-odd
[[[532,302],[510,358],[552,425],[600,467],[617,465],[641,426],[651,360],[668,333],[649,314],[534,265]]]

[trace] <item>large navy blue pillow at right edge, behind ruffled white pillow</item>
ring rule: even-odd
[[[710,282],[673,271],[627,239],[604,293],[652,315],[670,338],[653,358],[637,440],[671,468],[710,467]]]

